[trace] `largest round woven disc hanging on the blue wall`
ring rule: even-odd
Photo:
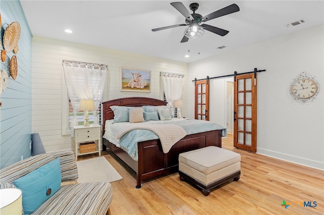
[[[18,40],[20,37],[20,24],[13,22],[5,30],[4,48],[7,52],[11,52],[14,48],[18,49]]]

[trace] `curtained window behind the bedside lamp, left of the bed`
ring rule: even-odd
[[[83,111],[73,113],[72,108],[78,110],[78,104],[82,97],[94,99],[95,106],[98,108],[96,112],[89,112],[89,123],[100,125],[101,98],[107,66],[65,60],[62,64],[62,135],[70,134],[71,125],[84,124],[85,113]]]

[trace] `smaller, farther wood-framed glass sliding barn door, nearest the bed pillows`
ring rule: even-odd
[[[209,79],[195,82],[194,119],[209,121]]]

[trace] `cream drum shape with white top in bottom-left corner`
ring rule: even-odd
[[[0,214],[22,213],[22,192],[17,188],[0,189]]]

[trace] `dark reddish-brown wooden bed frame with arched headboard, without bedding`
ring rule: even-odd
[[[102,134],[104,134],[106,120],[114,117],[110,109],[112,105],[118,106],[143,106],[143,105],[166,105],[167,102],[146,97],[127,97],[102,102],[103,120]],[[148,140],[138,143],[138,161],[131,158],[123,149],[116,147],[107,139],[103,138],[103,150],[108,147],[112,153],[123,160],[137,174],[136,188],[141,188],[142,180],[156,176],[174,173],[178,171],[178,156],[182,152],[215,145],[222,147],[222,130],[214,130],[203,133],[187,135],[172,146],[168,153],[164,153],[159,139]]]

